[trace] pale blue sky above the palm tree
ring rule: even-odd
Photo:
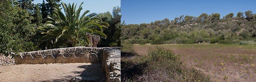
[[[110,11],[112,13],[112,9],[115,6],[121,7],[121,0],[61,0],[62,2],[68,4],[73,4],[73,2],[77,3],[77,7],[84,2],[83,10],[81,12],[84,12],[85,10],[90,10],[90,12],[107,12]],[[43,0],[34,0],[34,4],[42,3]]]

